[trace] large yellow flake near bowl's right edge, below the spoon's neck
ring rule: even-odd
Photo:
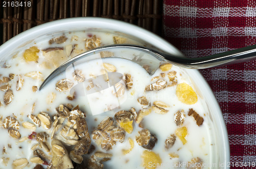
[[[197,102],[196,92],[187,83],[180,83],[177,86],[176,95],[185,104],[195,104]]]

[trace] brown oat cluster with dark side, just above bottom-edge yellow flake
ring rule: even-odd
[[[142,129],[138,131],[139,136],[136,136],[136,142],[145,149],[153,149],[157,142],[157,137],[151,134],[149,130]]]

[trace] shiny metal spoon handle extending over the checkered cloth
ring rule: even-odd
[[[179,63],[179,66],[189,69],[205,69],[256,60],[256,45],[192,59],[173,57],[166,53],[161,54],[165,59]]]

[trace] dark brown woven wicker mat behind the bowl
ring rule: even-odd
[[[0,44],[33,26],[70,17],[113,18],[136,24],[158,35],[162,34],[161,0],[0,0],[0,2],[2,32]],[[9,4],[3,7],[4,2]],[[11,7],[11,2],[22,3],[23,6],[13,4],[14,7]]]

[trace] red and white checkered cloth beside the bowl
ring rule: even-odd
[[[164,0],[164,36],[190,58],[256,44],[256,0]],[[221,106],[231,162],[256,163],[256,62],[200,72]]]

